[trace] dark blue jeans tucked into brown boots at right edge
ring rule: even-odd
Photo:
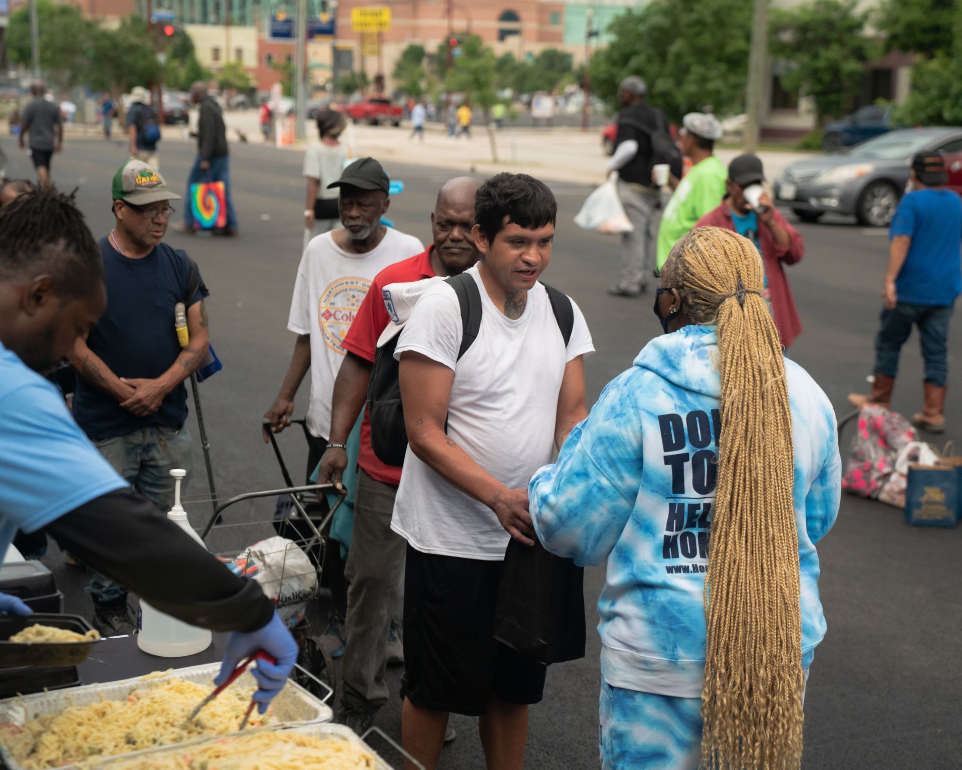
[[[875,373],[895,377],[899,372],[899,352],[912,333],[919,327],[922,357],[925,361],[925,382],[944,388],[949,377],[946,340],[952,305],[934,307],[899,302],[895,310],[882,309],[881,324],[875,336]]]

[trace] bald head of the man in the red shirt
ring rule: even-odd
[[[481,183],[459,176],[444,183],[431,213],[434,250],[431,265],[438,275],[457,275],[478,261],[474,248],[474,196]]]

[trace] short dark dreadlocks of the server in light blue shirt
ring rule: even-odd
[[[0,280],[43,274],[53,278],[63,300],[87,295],[104,276],[100,248],[74,193],[63,194],[51,185],[0,208]]]

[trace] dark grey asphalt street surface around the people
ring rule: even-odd
[[[13,142],[5,143],[12,164],[8,175],[30,176],[33,169],[26,156],[13,149]],[[261,438],[260,423],[290,360],[293,335],[286,326],[301,256],[304,209],[299,153],[253,145],[232,145],[232,153],[240,237],[171,233],[167,238],[169,244],[189,250],[211,290],[207,303],[211,337],[224,370],[203,383],[201,393],[221,497],[283,484]],[[161,170],[182,194],[192,155],[186,142],[165,141],[161,148]],[[77,188],[79,204],[98,238],[112,226],[111,178],[125,158],[120,142],[92,140],[69,141],[63,154],[54,158],[55,182],[63,191]],[[599,167],[602,163],[599,154]],[[449,174],[393,163],[387,170],[406,185],[392,199],[388,217],[400,230],[427,243],[429,213]],[[551,188],[559,213],[552,261],[544,277],[578,302],[594,335],[597,352],[586,365],[591,404],[606,382],[631,365],[659,326],[651,312],[650,288],[638,299],[605,293],[618,274],[619,244],[614,238],[584,233],[572,222],[591,189],[565,183],[552,183]],[[179,210],[185,205],[175,203]],[[844,416],[849,411],[846,395],[868,387],[865,377],[872,371],[888,242],[884,231],[865,230],[850,221],[797,226],[805,238],[806,255],[788,269],[788,276],[804,331],[791,356],[815,377],[837,414]],[[962,388],[960,341],[962,321],[956,315],[949,334],[945,437],[956,440],[962,439],[962,415],[958,399],[951,395]],[[900,372],[893,406],[911,414],[920,409],[922,397],[915,335],[903,350]],[[306,401],[305,387],[296,401],[298,416]],[[195,448],[190,492],[202,496],[207,487],[192,418],[190,426]],[[849,429],[843,453],[850,435]],[[303,437],[291,431],[280,440],[297,480],[306,459]],[[941,447],[943,441],[935,443]],[[208,506],[194,502],[189,507],[192,524],[201,526]],[[229,521],[266,522],[272,510],[272,501],[261,501],[232,511]],[[240,551],[268,534],[271,529],[265,524],[231,528],[214,549]],[[808,680],[803,767],[938,770],[962,765],[960,547],[962,527],[906,526],[895,508],[843,497],[838,522],[819,545],[828,633]],[[86,575],[63,567],[53,544],[45,561],[67,595],[66,611],[89,614],[83,591]],[[602,580],[600,568],[586,572],[588,655],[549,669],[544,703],[531,709],[526,767],[597,766],[599,645],[594,607]],[[159,660],[158,668],[171,662]],[[392,670],[389,678],[396,692],[399,672]],[[377,724],[399,737],[399,702],[392,699],[378,714]],[[455,716],[452,724],[459,737],[444,750],[441,767],[483,768],[476,722]],[[395,762],[398,758],[390,752],[386,756]]]

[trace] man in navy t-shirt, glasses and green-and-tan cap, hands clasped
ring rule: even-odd
[[[114,470],[166,511],[173,504],[171,469],[190,475],[193,464],[184,380],[208,348],[207,290],[200,282],[187,296],[190,258],[162,243],[170,201],[180,198],[164,177],[128,161],[114,175],[113,196],[116,224],[100,240],[107,310],[73,349],[73,416]],[[184,348],[174,329],[178,302],[187,306]],[[133,628],[123,586],[91,573],[89,591],[102,631]]]

